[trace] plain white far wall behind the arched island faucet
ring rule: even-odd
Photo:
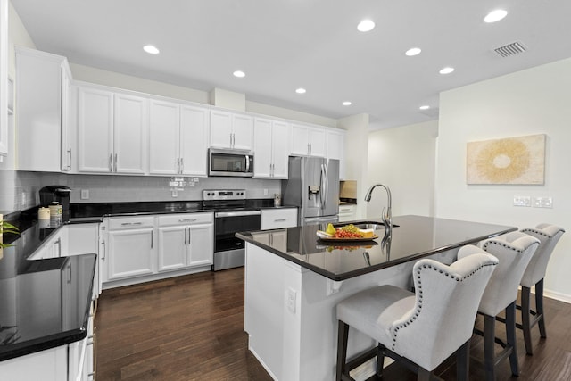
[[[434,161],[438,122],[381,129],[368,134],[368,186],[391,188],[393,216],[434,216]],[[385,190],[376,188],[367,203],[368,218],[381,216]]]

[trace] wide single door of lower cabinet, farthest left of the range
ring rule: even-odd
[[[153,274],[153,228],[109,232],[108,278]]]

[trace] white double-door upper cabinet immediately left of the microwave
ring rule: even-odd
[[[150,103],[150,173],[206,176],[207,108],[158,100]]]

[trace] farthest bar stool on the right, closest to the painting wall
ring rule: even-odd
[[[525,352],[534,354],[532,347],[532,328],[539,323],[539,333],[542,337],[547,337],[545,332],[545,317],[543,315],[543,278],[550,261],[551,253],[559,238],[563,236],[565,230],[555,225],[539,224],[535,228],[524,228],[521,230],[525,234],[534,236],[540,240],[540,245],[535,251],[532,260],[529,261],[524,276],[521,278],[521,321],[517,327],[524,331]],[[529,300],[531,287],[535,286],[535,311],[530,308]],[[531,318],[534,319],[531,319]]]

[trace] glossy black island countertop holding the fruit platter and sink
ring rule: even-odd
[[[348,222],[340,225],[345,224]],[[362,242],[323,241],[316,236],[317,230],[326,228],[321,225],[243,232],[236,236],[339,281],[517,230],[516,227],[423,216],[394,217],[393,225],[390,239],[385,236],[385,227],[379,225],[375,231],[378,238]],[[285,251],[284,247],[265,244],[271,242],[267,235],[276,231],[287,234]]]

